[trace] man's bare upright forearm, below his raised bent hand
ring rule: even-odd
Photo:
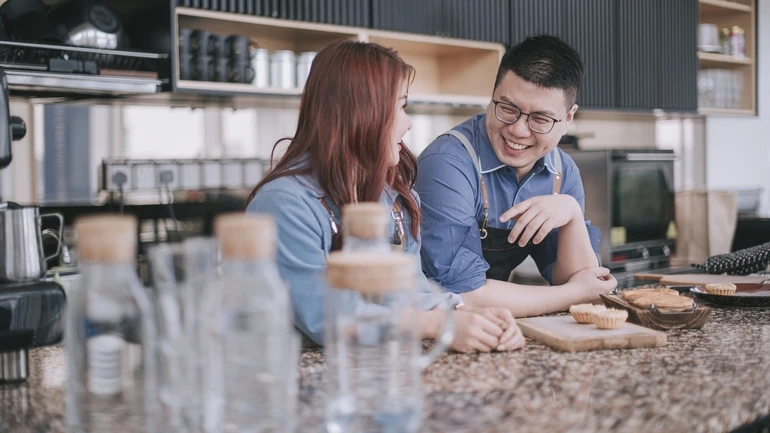
[[[565,284],[578,271],[599,266],[596,253],[583,220],[573,220],[559,229],[556,263],[551,272],[551,284]]]

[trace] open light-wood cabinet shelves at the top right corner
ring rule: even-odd
[[[756,115],[756,0],[699,0],[698,5],[698,111]],[[743,30],[742,55],[735,55],[729,48],[733,45],[729,32],[734,26]],[[728,32],[727,46],[723,31]]]

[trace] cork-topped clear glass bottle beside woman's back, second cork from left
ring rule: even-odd
[[[203,301],[207,431],[284,433],[296,428],[299,334],[274,262],[269,216],[223,215],[218,288]],[[206,310],[208,309],[208,311]]]

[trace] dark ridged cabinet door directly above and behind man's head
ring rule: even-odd
[[[617,0],[514,0],[511,2],[511,45],[528,36],[558,36],[580,53],[585,68],[578,105],[617,105]]]

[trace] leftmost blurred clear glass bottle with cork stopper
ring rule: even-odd
[[[156,327],[136,273],[137,221],[97,215],[75,221],[81,285],[66,314],[69,432],[155,432]]]

